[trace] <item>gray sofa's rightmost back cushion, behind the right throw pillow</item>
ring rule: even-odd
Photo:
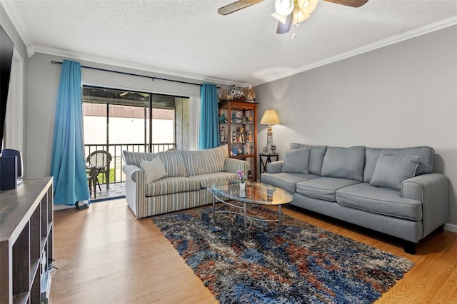
[[[379,154],[392,154],[401,156],[416,156],[420,159],[416,176],[433,172],[433,156],[435,151],[431,147],[419,146],[411,148],[366,148],[365,168],[363,169],[363,182],[369,183],[373,176]]]

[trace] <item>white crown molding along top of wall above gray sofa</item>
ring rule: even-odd
[[[313,64],[308,64],[308,66],[303,66],[300,69],[295,69],[295,70],[289,71],[288,73],[281,74],[279,76],[276,75],[271,78],[264,78],[261,81],[254,83],[253,86],[259,86],[263,83],[276,81],[278,79],[286,78],[288,76],[293,76],[293,75],[299,74],[304,71],[316,69],[319,66],[325,66],[326,64],[332,64],[333,62],[347,59],[352,56],[357,56],[357,55],[366,53],[368,51],[381,49],[384,46],[396,44],[398,42],[412,39],[417,36],[425,35],[425,34],[433,32],[433,31],[438,31],[440,29],[446,29],[447,27],[455,26],[456,24],[457,24],[457,16],[452,16],[450,18],[443,19],[441,21],[436,21],[432,24],[427,24],[426,26],[418,27],[417,29],[412,29],[411,31],[405,31],[404,33],[373,42],[372,44],[367,44],[366,46],[361,46],[360,48],[353,49],[351,51],[346,51],[346,52],[338,54],[336,56],[328,57],[321,61],[316,61]]]

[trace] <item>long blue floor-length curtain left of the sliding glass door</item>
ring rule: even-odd
[[[88,200],[84,159],[81,64],[64,60],[57,96],[51,174],[54,203],[74,205]]]

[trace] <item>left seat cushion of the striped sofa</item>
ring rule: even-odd
[[[146,196],[164,196],[171,193],[199,191],[200,183],[192,178],[178,176],[161,178],[151,183],[146,183]]]

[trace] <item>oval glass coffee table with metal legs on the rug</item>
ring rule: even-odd
[[[265,183],[258,183],[255,181],[247,181],[246,190],[244,191],[240,190],[238,181],[215,181],[207,189],[214,195],[217,201],[235,208],[243,209],[243,213],[232,211],[216,211],[216,202],[213,202],[214,221],[216,221],[216,213],[219,212],[235,213],[243,216],[245,237],[248,235],[248,229],[251,228],[251,225],[248,227],[248,220],[251,222],[251,224],[252,220],[278,222],[278,228],[281,228],[281,206],[291,202],[293,199],[291,193],[288,193],[281,188],[266,185]],[[242,206],[237,206],[233,203],[229,203],[228,201],[237,201],[241,203]],[[266,220],[248,216],[248,204],[278,206],[278,219]]]

